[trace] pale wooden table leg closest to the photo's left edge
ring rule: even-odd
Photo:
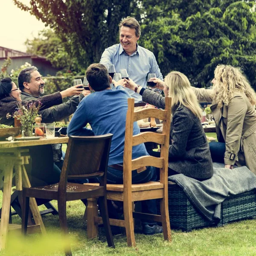
[[[4,181],[3,181],[3,204],[1,213],[1,225],[0,225],[0,250],[6,247],[7,233],[9,226],[9,212],[11,204],[12,193],[12,173],[15,160],[4,161],[0,160],[0,163],[4,164]]]

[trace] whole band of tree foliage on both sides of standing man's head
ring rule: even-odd
[[[130,15],[141,24],[140,45],[154,52],[164,75],[178,70],[205,86],[218,64],[231,64],[256,87],[254,1],[31,0],[31,7],[14,1],[69,41],[68,52],[84,67],[118,42],[118,23]]]

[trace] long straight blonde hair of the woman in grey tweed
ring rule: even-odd
[[[189,79],[183,73],[172,71],[165,77],[164,82],[169,88],[168,96],[172,97],[172,107],[183,105],[201,119],[202,110]]]

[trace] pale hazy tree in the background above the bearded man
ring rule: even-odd
[[[44,29],[38,37],[25,42],[28,53],[41,55],[52,63],[53,67],[80,71],[76,57],[73,57],[70,41],[59,38],[52,29]]]

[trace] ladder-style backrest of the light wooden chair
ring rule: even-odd
[[[140,111],[134,111],[134,99],[128,99],[123,160],[124,186],[131,186],[131,170],[138,169],[143,166],[154,166],[160,168],[160,183],[164,183],[167,181],[169,137],[171,124],[171,103],[172,98],[165,97],[164,110],[156,108],[145,108]],[[133,136],[134,122],[147,117],[154,117],[163,120],[162,134],[157,134],[154,132],[143,132]],[[132,146],[145,142],[154,142],[161,145],[160,158],[143,156],[132,160]]]

